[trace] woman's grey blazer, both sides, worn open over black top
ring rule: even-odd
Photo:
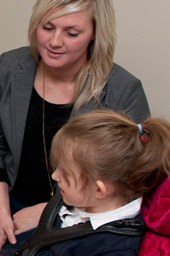
[[[19,169],[27,111],[34,85],[37,63],[30,47],[5,52],[0,57],[0,180],[4,173],[13,187]],[[126,112],[135,122],[149,116],[149,107],[141,82],[114,64],[100,95],[103,107]],[[70,118],[97,109],[92,99]]]

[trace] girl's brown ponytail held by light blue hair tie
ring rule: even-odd
[[[170,173],[170,124],[160,118],[149,118],[138,125],[138,139],[143,149],[137,150],[128,184],[136,196],[148,192]]]

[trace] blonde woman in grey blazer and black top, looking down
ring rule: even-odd
[[[68,119],[102,107],[149,116],[141,82],[113,64],[115,34],[112,0],[37,0],[30,47],[1,55],[0,248],[54,194],[50,144]]]

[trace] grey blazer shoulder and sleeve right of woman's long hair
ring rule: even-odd
[[[125,112],[136,123],[150,116],[148,101],[141,81],[123,67],[114,65],[104,88],[104,106],[113,111]]]

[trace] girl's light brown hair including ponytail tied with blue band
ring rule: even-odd
[[[170,124],[149,118],[143,134],[125,114],[92,111],[68,122],[54,136],[51,162],[75,164],[84,186],[92,180],[116,185],[125,202],[153,189],[170,172]]]

